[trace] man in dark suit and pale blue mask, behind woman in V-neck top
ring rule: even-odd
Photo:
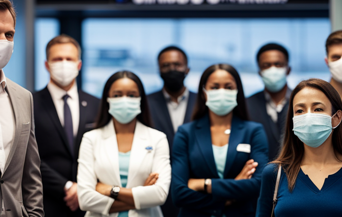
[[[247,106],[250,119],[264,125],[269,159],[274,160],[280,151],[291,95],[286,80],[291,72],[289,53],[281,45],[267,44],[260,48],[256,60],[265,89],[249,97]]]

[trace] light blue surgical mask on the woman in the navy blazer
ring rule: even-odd
[[[224,116],[231,112],[237,105],[238,90],[218,89],[207,91],[205,105],[215,114]]]

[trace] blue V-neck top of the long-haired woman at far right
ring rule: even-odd
[[[261,192],[256,217],[268,217],[272,214],[273,195],[278,166],[269,164],[262,172]],[[302,170],[299,171],[296,184],[290,193],[288,179],[281,173],[278,202],[275,206],[276,217],[341,217],[342,215],[342,169],[329,175],[321,190]]]

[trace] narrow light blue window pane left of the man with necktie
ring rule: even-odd
[[[45,48],[49,41],[59,35],[59,21],[54,18],[37,18],[35,20],[34,49],[35,49],[35,75],[34,90],[39,91],[46,87],[50,75],[45,68]]]

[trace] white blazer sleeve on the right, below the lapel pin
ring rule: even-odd
[[[171,165],[169,143],[164,136],[156,145],[152,171],[159,174],[153,186],[137,186],[132,188],[136,209],[159,206],[165,203],[171,183]]]

